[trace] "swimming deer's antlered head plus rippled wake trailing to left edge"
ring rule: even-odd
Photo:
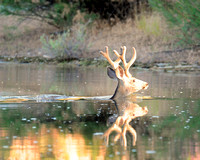
[[[9,97],[1,97],[2,99],[0,102],[24,102],[29,100],[36,100],[38,102],[50,102],[50,101],[60,101],[60,100],[96,100],[96,99],[119,99],[119,98],[125,98],[128,95],[137,92],[141,89],[147,89],[148,83],[143,82],[139,79],[134,78],[131,73],[129,72],[129,69],[131,65],[136,60],[136,50],[133,47],[133,56],[131,60],[127,63],[126,62],[126,46],[121,47],[121,54],[119,54],[116,50],[113,50],[115,55],[117,56],[117,59],[113,61],[108,53],[108,47],[106,46],[106,51],[100,51],[100,53],[108,60],[108,62],[111,64],[111,67],[107,68],[107,74],[111,79],[115,79],[118,81],[117,88],[113,94],[113,96],[110,98],[110,96],[98,96],[98,97],[74,97],[74,96],[61,96],[61,95],[38,95],[37,97],[27,97],[22,96],[19,98],[15,98],[12,96]],[[120,62],[123,63],[124,69],[120,66]],[[144,98],[144,97],[142,97]],[[149,98],[149,97],[147,97]]]

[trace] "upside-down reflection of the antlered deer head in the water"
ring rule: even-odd
[[[137,133],[135,129],[129,124],[133,119],[144,116],[148,113],[147,107],[140,107],[135,101],[129,101],[126,99],[115,101],[116,107],[119,107],[119,116],[113,125],[104,133],[106,138],[106,144],[109,143],[109,136],[112,132],[116,131],[117,135],[114,138],[114,142],[117,142],[122,138],[124,147],[127,146],[126,133],[129,131],[133,136],[133,146],[136,145]]]

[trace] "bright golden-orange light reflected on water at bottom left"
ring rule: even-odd
[[[25,137],[13,138],[8,160],[40,160],[48,154],[51,155],[49,159],[56,160],[104,159],[105,146],[99,145],[98,139],[93,140],[98,143],[94,152],[83,135],[65,134],[57,128],[42,125],[39,136],[30,133]]]

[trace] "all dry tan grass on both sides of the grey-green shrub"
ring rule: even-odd
[[[56,32],[52,26],[29,19],[19,23],[16,17],[0,16],[0,21],[0,55],[41,56],[44,53],[41,51],[40,36]],[[131,48],[136,48],[138,62],[180,60],[200,63],[198,50],[188,50],[184,53],[159,53],[174,50],[176,39],[174,31],[168,28],[164,18],[157,13],[142,14],[136,17],[135,21],[133,19],[127,19],[126,22],[119,21],[112,27],[106,21],[97,20],[88,27],[88,33],[89,43],[92,46],[89,48],[89,53],[82,54],[83,57],[101,57],[99,51],[105,46],[108,46],[112,52],[113,49],[120,51],[120,47],[125,45],[129,57],[132,53]]]

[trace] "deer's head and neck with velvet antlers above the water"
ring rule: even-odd
[[[129,68],[136,60],[136,50],[133,47],[133,56],[131,60],[127,63],[126,62],[126,47],[121,47],[121,54],[119,54],[116,50],[113,50],[115,55],[118,57],[117,60],[112,61],[112,59],[109,56],[108,53],[108,47],[106,46],[106,51],[100,51],[100,53],[108,60],[108,62],[111,64],[111,67],[107,68],[107,74],[110,78],[116,79],[118,81],[117,88],[115,90],[115,93],[111,97],[111,99],[117,99],[120,97],[126,97],[130,95],[131,93],[137,92],[141,89],[147,89],[148,83],[143,82],[139,79],[134,78],[130,72]],[[124,69],[119,65],[122,61]]]

